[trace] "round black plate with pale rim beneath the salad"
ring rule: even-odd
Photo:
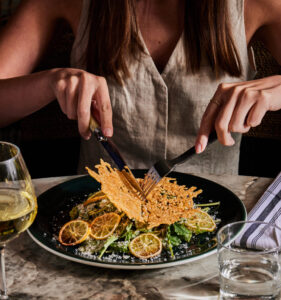
[[[135,170],[134,175],[143,178],[146,170]],[[221,219],[217,230],[222,226],[246,220],[246,209],[242,201],[227,188],[204,178],[173,172],[169,175],[176,178],[178,184],[187,187],[196,186],[203,193],[196,199],[195,203],[208,203],[220,201],[216,211],[216,218]],[[201,234],[200,247],[178,247],[174,248],[175,257],[171,258],[168,253],[162,251],[161,256],[140,260],[131,255],[105,254],[101,259],[96,256],[84,255],[78,251],[78,246],[66,247],[57,241],[61,226],[70,220],[69,211],[73,206],[85,201],[90,193],[100,189],[100,184],[90,176],[83,176],[61,183],[38,197],[38,214],[29,228],[31,238],[47,251],[78,263],[91,266],[114,269],[157,269],[171,267],[201,259],[216,251],[216,245],[210,234]],[[215,233],[213,233],[213,236]]]

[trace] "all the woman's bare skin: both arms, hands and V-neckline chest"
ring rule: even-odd
[[[81,0],[25,0],[0,35],[0,126],[6,126],[58,99],[62,111],[78,120],[80,134],[90,138],[91,111],[106,136],[113,134],[106,80],[83,70],[64,68],[29,75],[41,58],[55,24],[65,19],[74,34]],[[161,72],[183,30],[184,0],[139,0],[137,17],[146,47]],[[245,0],[248,46],[262,40],[281,64],[280,0]],[[38,93],[40,91],[40,93]],[[257,126],[266,111],[281,109],[281,76],[221,84],[202,118],[196,141],[204,151],[215,127],[219,141],[232,145],[231,132]],[[94,100],[94,102],[93,102]],[[93,103],[94,105],[93,108]],[[7,109],[9,108],[9,109]]]

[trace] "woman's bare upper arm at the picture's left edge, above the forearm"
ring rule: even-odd
[[[1,30],[0,78],[32,72],[60,17],[60,12],[54,9],[53,0],[22,1],[14,16]]]

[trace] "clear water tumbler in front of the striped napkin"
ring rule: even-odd
[[[246,229],[255,230],[252,244],[241,239]],[[261,235],[264,240],[258,238]],[[217,240],[220,299],[280,299],[279,227],[259,221],[235,222],[222,227]]]

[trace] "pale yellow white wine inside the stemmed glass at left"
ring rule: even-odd
[[[25,231],[36,213],[35,196],[26,191],[0,189],[0,246]]]

